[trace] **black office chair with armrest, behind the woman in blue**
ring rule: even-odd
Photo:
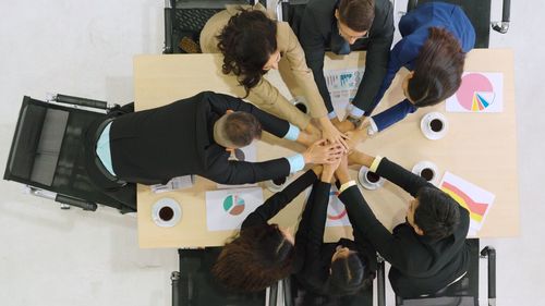
[[[416,8],[421,3],[432,2],[434,0],[409,0],[407,12]],[[491,22],[491,2],[492,0],[435,0],[449,2],[460,5],[473,27],[475,28],[476,39],[475,48],[488,48],[491,40],[491,27],[501,34],[506,34],[509,29],[509,19],[511,11],[511,0],[502,0],[501,22]]]

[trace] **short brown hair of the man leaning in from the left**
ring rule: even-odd
[[[245,147],[254,139],[259,139],[263,132],[262,123],[257,118],[243,111],[235,111],[227,114],[221,128],[227,138],[239,147]]]

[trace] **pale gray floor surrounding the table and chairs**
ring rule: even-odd
[[[499,16],[499,1],[494,0]],[[5,164],[24,95],[63,93],[133,99],[132,57],[159,53],[162,1],[7,1],[0,11],[0,164]],[[508,35],[491,47],[512,48],[519,135],[521,235],[486,240],[498,250],[498,305],[543,305],[545,120],[544,1],[513,1]],[[108,208],[58,209],[1,182],[1,305],[170,305],[174,249],[140,249],[136,218]],[[506,186],[509,188],[509,186]],[[391,298],[389,305],[391,305]]]

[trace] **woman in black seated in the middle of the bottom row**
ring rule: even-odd
[[[305,290],[304,296],[298,298],[305,305],[356,294],[373,283],[377,269],[376,252],[360,232],[354,231],[354,241],[341,238],[336,244],[324,243],[330,182],[337,166],[324,166],[295,234],[294,273]]]

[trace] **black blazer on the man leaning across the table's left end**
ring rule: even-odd
[[[214,142],[214,123],[227,110],[254,114],[263,128],[278,137],[289,123],[228,95],[204,91],[173,103],[121,115],[110,128],[113,171],[119,179],[166,183],[197,174],[223,184],[255,183],[287,176],[286,158],[265,162],[228,161],[226,148]]]

